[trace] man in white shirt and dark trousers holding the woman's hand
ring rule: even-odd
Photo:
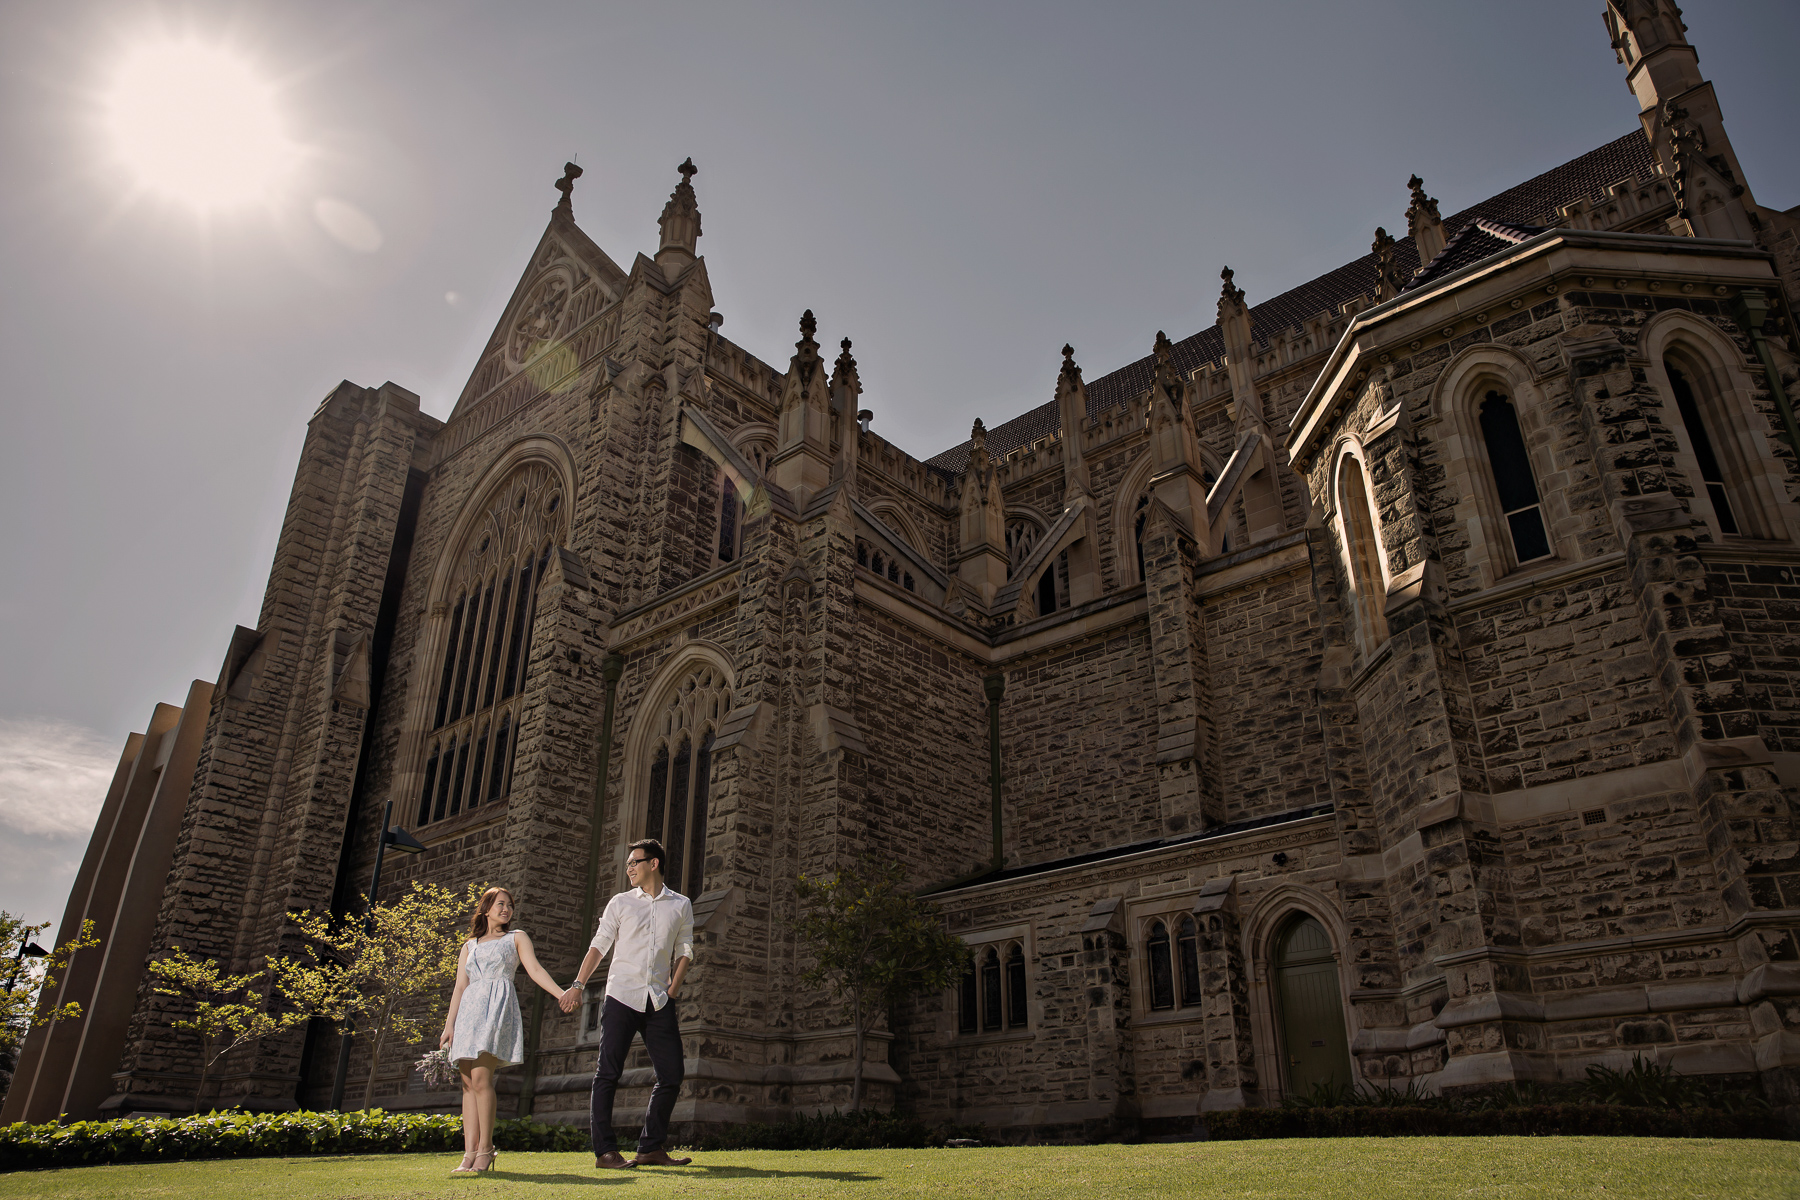
[[[625,874],[632,891],[607,901],[574,984],[562,997],[562,1009],[572,1013],[587,981],[599,970],[599,961],[612,952],[607,1002],[599,1015],[594,1099],[589,1108],[594,1166],[688,1166],[693,1159],[671,1159],[662,1139],[668,1137],[670,1114],[684,1074],[680,1022],[675,1018],[673,1000],[680,995],[680,981],[693,961],[693,905],[662,883],[662,842],[655,838],[632,842],[625,855]],[[612,1094],[637,1034],[644,1036],[657,1085],[650,1092],[637,1157],[626,1162],[612,1132]]]

